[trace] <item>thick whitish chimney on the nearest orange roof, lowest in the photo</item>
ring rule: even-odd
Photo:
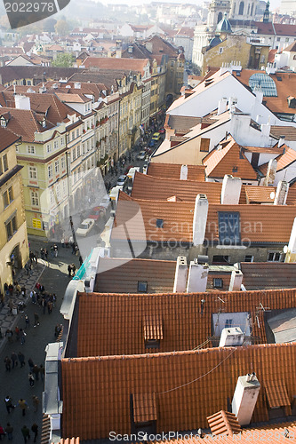
[[[238,377],[231,404],[232,413],[236,415],[238,424],[248,425],[251,423],[259,392],[260,383],[255,373]]]

